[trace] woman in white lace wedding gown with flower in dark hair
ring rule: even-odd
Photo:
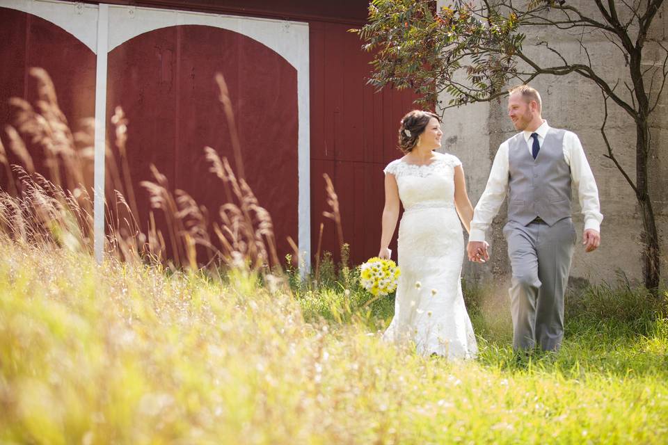
[[[405,156],[383,170],[385,209],[378,255],[383,259],[390,258],[399,200],[404,205],[395,316],[383,339],[413,341],[424,355],[472,358],[477,344],[461,293],[464,241],[459,222],[468,232],[473,208],[459,159],[434,152],[441,136],[438,115],[411,111],[399,128],[399,149]]]

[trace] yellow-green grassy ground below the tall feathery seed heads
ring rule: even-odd
[[[666,443],[665,300],[585,289],[562,350],[518,359],[503,293],[468,286],[481,351],[446,362],[382,343],[392,300],[355,280],[272,292],[1,242],[0,443]]]

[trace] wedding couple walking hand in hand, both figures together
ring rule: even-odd
[[[508,196],[503,234],[512,268],[513,347],[555,351],[561,346],[564,293],[577,238],[571,186],[584,214],[586,252],[601,242],[598,188],[578,136],[550,127],[541,117],[539,92],[526,85],[510,90],[508,115],[520,132],[500,145],[475,210],[459,159],[434,152],[443,136],[438,115],[411,111],[401,120],[399,149],[405,156],[383,170],[381,258],[390,257],[399,202],[404,206],[395,316],[384,339],[413,341],[425,355],[475,357],[477,344],[461,293],[461,225],[469,233],[468,259],[486,261],[486,229]]]

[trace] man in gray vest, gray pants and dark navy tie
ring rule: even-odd
[[[508,195],[503,234],[513,270],[513,348],[558,350],[564,337],[564,292],[575,247],[571,184],[584,214],[586,252],[601,243],[598,188],[578,136],[541,118],[530,86],[510,90],[508,115],[520,133],[502,143],[475,207],[468,258],[488,259],[485,231]]]

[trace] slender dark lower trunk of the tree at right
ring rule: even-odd
[[[649,198],[649,184],[647,180],[647,159],[649,157],[649,124],[647,120],[642,117],[637,120],[636,129],[636,197],[640,205],[640,215],[642,216],[642,243],[644,247],[642,274],[645,287],[655,295],[658,295],[660,246],[654,210]]]

